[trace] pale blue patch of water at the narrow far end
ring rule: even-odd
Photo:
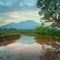
[[[16,42],[23,43],[23,44],[34,44],[35,43],[34,38],[35,37],[32,37],[32,36],[30,36],[30,37],[24,36],[23,37],[23,35],[22,35],[21,38]]]

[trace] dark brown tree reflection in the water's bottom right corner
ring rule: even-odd
[[[46,49],[44,54],[41,56],[41,60],[60,60],[60,53]]]

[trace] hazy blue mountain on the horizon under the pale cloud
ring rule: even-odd
[[[28,21],[22,21],[19,23],[10,23],[5,26],[2,26],[2,28],[15,28],[15,29],[35,29],[36,27],[40,26],[41,24],[34,22],[32,20]]]

